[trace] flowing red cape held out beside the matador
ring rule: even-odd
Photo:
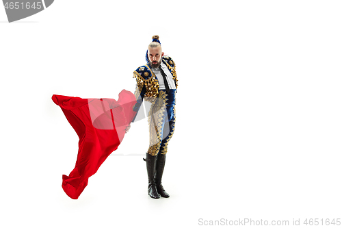
[[[78,199],[111,152],[118,149],[127,126],[136,112],[132,92],[122,90],[114,99],[81,99],[54,94],[53,102],[60,106],[70,125],[79,136],[79,151],[75,168],[62,175],[62,188],[71,199]]]

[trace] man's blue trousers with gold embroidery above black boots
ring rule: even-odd
[[[175,109],[176,90],[159,90],[158,98],[152,103],[148,113],[148,127],[150,131],[150,155],[166,154],[168,142],[174,133],[176,123]]]

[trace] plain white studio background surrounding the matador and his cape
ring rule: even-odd
[[[0,226],[341,218],[341,7],[56,0],[14,23],[0,7]],[[144,119],[70,199],[62,175],[75,167],[78,137],[52,95],[133,92],[155,34],[179,79],[163,176],[170,198],[147,194]]]

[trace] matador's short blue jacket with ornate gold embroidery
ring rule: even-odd
[[[173,75],[176,88],[178,87],[178,80],[176,75],[176,64],[169,56],[163,56],[161,61],[168,66],[170,73]],[[135,98],[137,103],[133,110],[137,112],[142,105],[142,99],[145,101],[154,101],[159,94],[159,83],[155,73],[151,71],[150,64],[140,66],[133,72],[133,77],[137,80],[137,87],[135,89]]]

